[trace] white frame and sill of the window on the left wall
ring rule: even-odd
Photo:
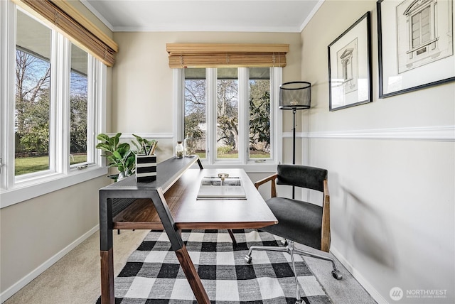
[[[92,100],[97,100],[97,102],[89,102],[88,104],[89,113],[87,116],[90,118],[87,119],[92,121],[92,126],[88,128],[87,133],[93,135],[93,140],[87,143],[87,163],[90,164],[87,165],[87,168],[79,170],[77,166],[70,166],[68,157],[64,157],[70,153],[69,143],[67,144],[70,124],[69,104],[62,105],[54,100],[51,101],[51,120],[60,119],[58,124],[68,126],[66,129],[51,127],[54,130],[50,132],[50,136],[54,136],[55,139],[51,141],[49,153],[50,158],[55,159],[55,163],[50,163],[50,170],[15,178],[14,165],[9,165],[14,164],[14,144],[11,144],[14,143],[14,128],[11,126],[14,126],[14,70],[16,63],[16,5],[11,1],[0,1],[0,20],[0,42],[2,45],[0,48],[0,97],[2,101],[0,104],[0,208],[107,175],[105,159],[102,158],[101,151],[95,149],[96,134],[105,131],[106,126],[107,67],[89,55],[89,69],[92,69],[93,72],[88,74],[95,75],[95,77],[88,79],[92,83],[91,86],[89,85],[91,89],[88,94],[94,97]],[[53,31],[53,39],[55,38],[62,42],[57,45],[53,43],[54,55],[60,56],[60,59],[63,54],[68,56],[70,54],[69,40]],[[58,63],[63,63],[63,60],[58,60]],[[69,96],[69,79],[63,77],[63,75],[69,75],[69,63],[66,67],[58,67],[53,64],[51,68],[53,69],[51,81],[58,82],[58,85],[55,83],[53,85],[51,99],[58,99],[57,96]],[[60,92],[56,92],[57,90]],[[66,114],[62,115],[61,113]],[[92,155],[88,152],[89,148],[93,150]],[[55,156],[51,156],[52,153]]]

